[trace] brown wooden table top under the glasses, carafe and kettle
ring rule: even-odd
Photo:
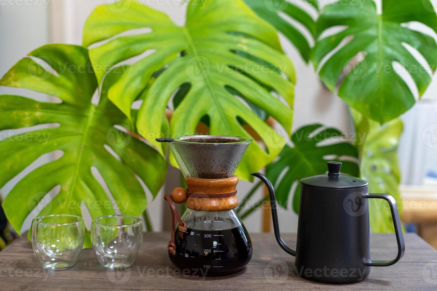
[[[168,258],[169,233],[145,233],[142,249],[131,268],[102,267],[92,249],[84,249],[69,270],[45,270],[31,243],[16,239],[0,252],[1,290],[437,290],[437,251],[415,234],[405,234],[404,257],[395,265],[372,267],[367,279],[353,285],[331,285],[296,276],[294,257],[285,253],[271,233],[252,234],[253,257],[246,268],[225,277],[181,274]],[[295,245],[296,235],[284,240]],[[394,235],[371,235],[371,256],[390,259],[397,252]],[[279,270],[279,272],[277,272]]]

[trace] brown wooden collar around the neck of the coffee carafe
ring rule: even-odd
[[[238,206],[238,199],[236,196],[237,184],[238,177],[236,175],[225,179],[201,179],[188,177],[187,194],[189,196],[185,204],[187,205],[187,208],[203,211],[234,209]]]

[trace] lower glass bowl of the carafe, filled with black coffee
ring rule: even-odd
[[[249,234],[236,212],[187,209],[181,217],[187,231],[175,232],[176,254],[170,260],[180,268],[211,269],[209,274],[241,270],[252,257]]]

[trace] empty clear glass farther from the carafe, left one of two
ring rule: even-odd
[[[79,257],[84,233],[82,217],[66,214],[36,217],[31,228],[35,256],[46,269],[67,269]]]

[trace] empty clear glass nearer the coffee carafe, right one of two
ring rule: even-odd
[[[91,243],[97,259],[109,269],[135,262],[142,244],[142,221],[130,215],[97,217],[91,223]]]

